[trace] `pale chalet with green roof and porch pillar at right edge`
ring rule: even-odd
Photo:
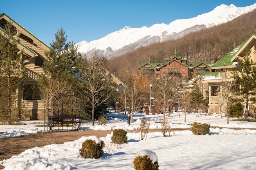
[[[221,108],[225,104],[220,104],[223,86],[234,86],[234,79],[231,78],[231,71],[240,69],[237,58],[243,60],[243,55],[246,49],[251,50],[249,59],[256,62],[256,34],[252,34],[248,40],[241,43],[227,55],[222,57],[211,67],[218,73],[216,77],[202,80],[202,83],[209,87],[209,113],[222,114],[226,112],[225,108]]]

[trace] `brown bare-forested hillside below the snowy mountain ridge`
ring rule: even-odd
[[[164,58],[177,53],[188,62],[215,63],[236,46],[256,32],[256,10],[242,15],[231,22],[189,33],[183,38],[145,46],[125,55],[108,60],[109,71],[122,79],[128,66],[136,71],[141,62],[163,62]]]

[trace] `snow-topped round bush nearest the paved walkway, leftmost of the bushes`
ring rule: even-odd
[[[102,148],[104,147],[104,141],[96,136],[90,136],[89,139],[83,142],[82,148],[79,150],[81,157],[87,158],[100,158],[104,152]]]

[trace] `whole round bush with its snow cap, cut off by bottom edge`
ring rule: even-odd
[[[158,158],[151,150],[141,150],[137,152],[133,160],[135,170],[158,170]]]

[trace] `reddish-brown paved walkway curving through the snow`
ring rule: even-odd
[[[184,130],[184,129],[183,129]],[[161,131],[150,129],[150,132]],[[13,155],[19,155],[27,149],[43,147],[50,144],[64,144],[66,141],[74,141],[82,136],[105,137],[112,130],[84,130],[84,131],[62,131],[62,132],[39,132],[29,136],[0,138],[0,161],[9,159]],[[128,132],[139,132],[139,130],[128,130]],[[3,169],[4,166],[0,166]]]

